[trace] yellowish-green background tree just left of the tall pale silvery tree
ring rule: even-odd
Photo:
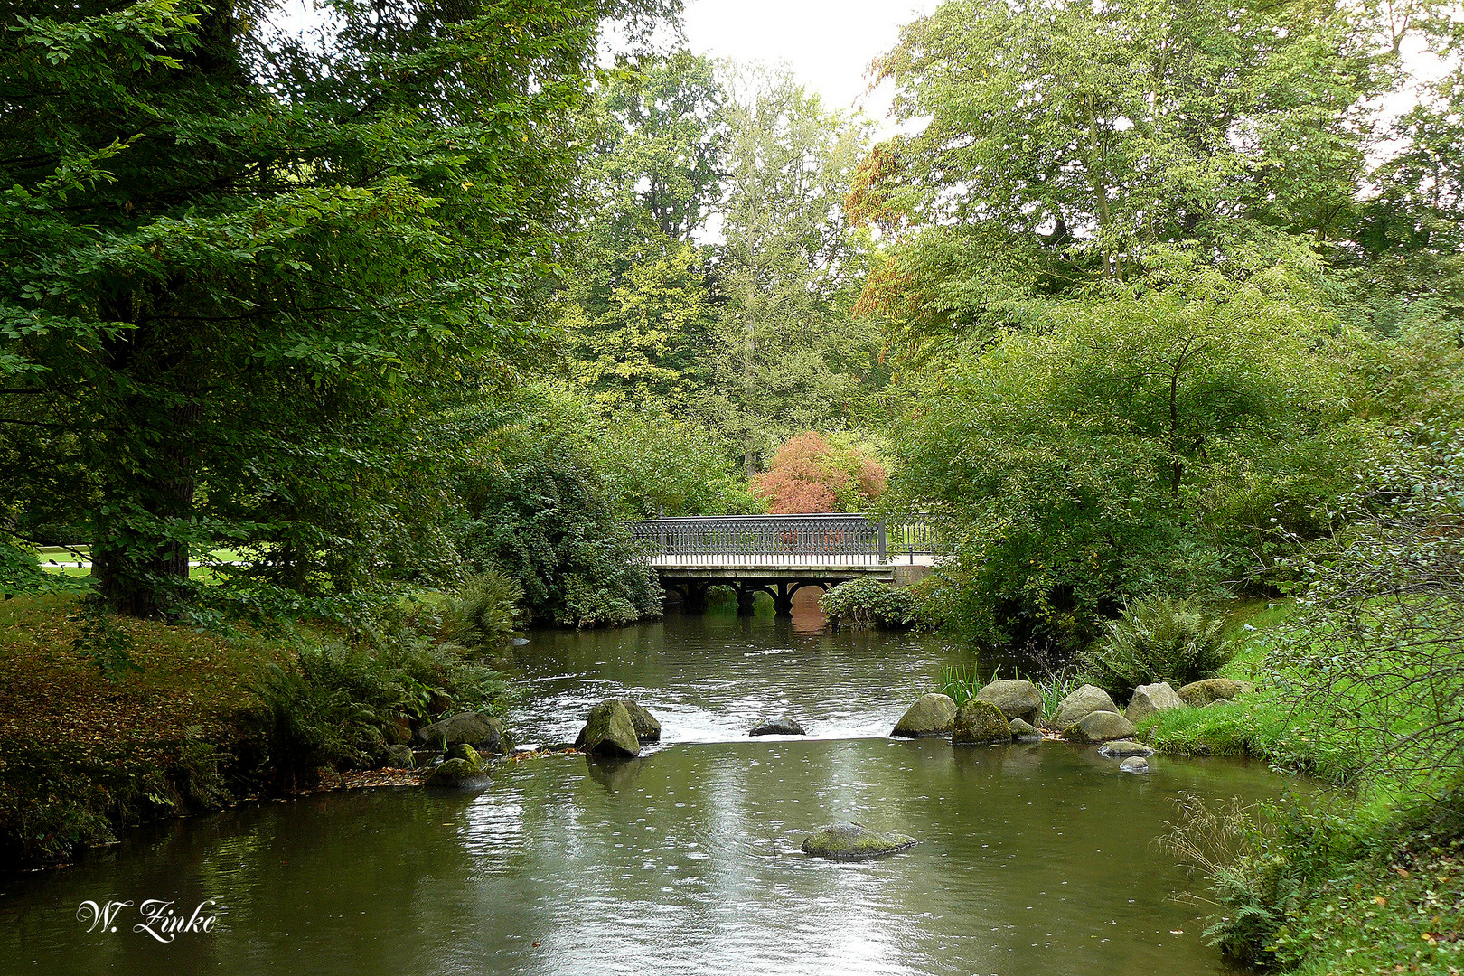
[[[624,59],[583,127],[583,247],[568,262],[568,372],[602,402],[685,401],[704,380],[709,259],[692,240],[722,195],[723,92],[685,51]]]

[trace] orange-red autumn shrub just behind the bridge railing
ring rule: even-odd
[[[752,476],[752,490],[773,515],[858,512],[884,492],[884,467],[821,433],[801,433],[773,455],[767,471]]]

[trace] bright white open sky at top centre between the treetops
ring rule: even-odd
[[[900,25],[935,6],[935,0],[687,0],[687,47],[735,61],[786,61],[823,95],[826,108],[849,108],[858,100],[883,123],[890,94],[865,98],[865,70],[895,47]]]

